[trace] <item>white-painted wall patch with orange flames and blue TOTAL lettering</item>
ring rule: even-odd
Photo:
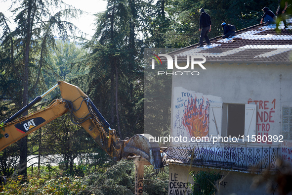
[[[205,137],[209,134],[209,105],[221,98],[174,88],[172,135]]]

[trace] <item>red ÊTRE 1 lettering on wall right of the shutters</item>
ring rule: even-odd
[[[276,108],[276,99],[272,101],[269,100],[252,100],[251,98],[248,100],[248,103],[255,103],[258,105],[258,109],[256,112],[256,132],[257,135],[261,137],[269,136],[269,131],[271,129],[271,124],[275,123],[274,115]],[[264,142],[264,139],[261,139],[261,143],[272,144],[272,142]]]

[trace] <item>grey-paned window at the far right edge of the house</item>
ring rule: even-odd
[[[282,135],[285,140],[292,140],[292,107],[283,106]]]

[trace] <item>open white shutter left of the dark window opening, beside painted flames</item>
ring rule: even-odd
[[[222,103],[211,102],[209,106],[209,138],[221,136]]]

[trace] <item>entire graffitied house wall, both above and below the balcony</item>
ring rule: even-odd
[[[255,135],[282,135],[283,106],[292,107],[292,65],[227,64],[205,63],[206,70],[199,68],[199,75],[183,74],[172,76],[171,133],[172,137],[186,137],[186,140],[171,142],[170,145],[188,143],[192,136],[209,136],[209,108],[221,103],[221,136],[227,136],[226,110],[224,106],[233,104],[255,104]],[[173,72],[181,71],[173,69]],[[192,70],[184,70],[192,71]],[[196,70],[197,71],[197,70]],[[190,102],[189,99],[196,100]],[[201,102],[200,102],[201,101]],[[186,103],[184,103],[186,102]],[[202,108],[203,106],[203,108]],[[196,107],[199,115],[194,114]],[[207,109],[206,109],[207,108]],[[190,112],[193,112],[191,113]],[[187,113],[187,114],[186,114]],[[190,116],[190,117],[185,117]],[[207,127],[206,127],[207,125]],[[196,129],[198,131],[196,131]],[[291,130],[292,131],[292,130]],[[281,158],[292,162],[292,140],[282,142],[240,143],[226,142],[229,146],[241,147],[272,146],[281,148]],[[280,157],[279,155],[279,157]],[[191,193],[187,183],[192,183],[191,170],[208,170],[185,165],[169,166],[169,195]],[[216,170],[217,172],[220,170]],[[221,171],[222,173],[222,171]],[[252,190],[250,185],[256,175],[236,171],[224,171],[224,180],[219,187],[221,195],[266,195],[265,186]]]

